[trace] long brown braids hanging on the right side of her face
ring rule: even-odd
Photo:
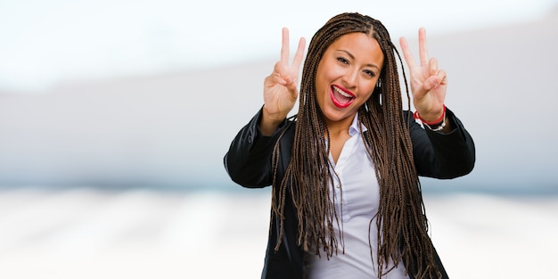
[[[394,53],[398,54],[399,62],[401,58],[382,23],[373,22],[373,37],[384,50],[385,61],[382,85],[377,89],[378,92],[374,93],[380,95],[380,100],[371,98],[367,102],[368,106],[379,109],[375,111],[376,113],[383,111],[383,121],[381,120],[375,126],[383,125],[385,132],[381,143],[386,148],[375,149],[376,154],[369,150],[374,165],[382,166],[376,168],[383,168],[377,171],[380,177],[380,205],[376,218],[376,225],[379,228],[378,263],[379,267],[382,267],[382,265],[387,266],[389,258],[396,264],[403,259],[407,271],[412,272],[417,278],[431,278],[439,276],[439,271],[434,263],[434,251],[427,234],[428,222],[424,214],[420,182],[414,168],[413,146],[406,124],[409,123],[409,119],[405,119],[401,111],[401,92]],[[405,70],[403,77],[406,78]],[[410,101],[407,87],[406,96],[407,101]],[[410,102],[408,109],[410,110]],[[359,113],[359,118],[366,127],[372,126],[366,125],[368,120],[379,120],[374,118],[373,114],[375,113]],[[374,137],[382,136],[382,133],[365,133],[363,136],[368,143],[366,145],[373,146],[377,145],[373,144]],[[384,158],[383,165],[374,157]]]

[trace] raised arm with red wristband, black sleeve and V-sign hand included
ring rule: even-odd
[[[399,43],[410,70],[410,85],[413,104],[423,123],[446,119],[446,127],[439,132],[409,123],[413,142],[414,164],[419,176],[435,178],[454,178],[472,171],[475,161],[475,148],[472,137],[463,124],[446,107],[447,74],[439,70],[438,60],[428,57],[426,30],[419,29],[419,62],[415,63],[413,54],[406,44],[405,37]],[[408,116],[408,115],[407,115]]]

